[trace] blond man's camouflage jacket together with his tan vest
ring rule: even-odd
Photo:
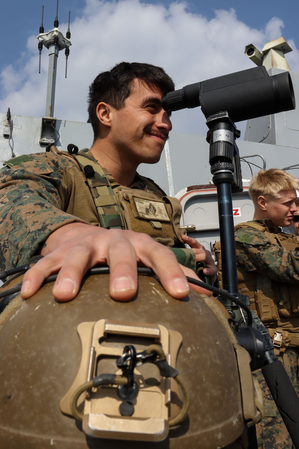
[[[239,292],[250,297],[266,327],[298,333],[299,239],[274,233],[266,219],[236,225],[235,243]],[[220,242],[213,249],[221,281]]]

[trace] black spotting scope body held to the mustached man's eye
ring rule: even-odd
[[[188,84],[161,98],[166,111],[201,106],[206,118],[227,111],[233,122],[295,109],[289,72],[269,76],[264,66]]]

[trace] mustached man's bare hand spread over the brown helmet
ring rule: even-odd
[[[153,269],[169,295],[184,298],[189,293],[186,276],[195,273],[178,264],[173,252],[143,233],[103,229],[82,223],[65,225],[53,232],[41,250],[43,259],[26,272],[21,295],[27,299],[38,291],[43,280],[59,274],[53,287],[58,301],[73,299],[87,269],[95,264],[110,267],[110,295],[119,301],[132,299],[137,291],[137,264]],[[201,287],[198,293],[210,295]]]

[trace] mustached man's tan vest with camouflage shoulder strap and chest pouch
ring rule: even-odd
[[[70,157],[77,161],[83,174],[87,165],[94,169],[93,176],[85,179],[102,227],[143,232],[165,246],[185,247],[182,234],[186,230],[180,227],[182,207],[177,198],[166,196],[154,181],[144,176],[141,176],[144,190],[119,185],[87,154]]]

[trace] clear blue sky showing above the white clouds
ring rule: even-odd
[[[59,0],[58,20],[66,22],[69,9],[71,20],[82,17],[85,0]],[[168,6],[171,1],[151,0],[143,3],[162,4]],[[49,31],[53,26],[56,14],[56,0],[10,0],[1,1],[0,39],[3,57],[0,59],[0,71],[8,65],[17,62],[21,53],[25,51],[26,40],[32,34],[38,35],[41,20],[42,4],[44,4],[44,28]],[[262,29],[271,18],[278,17],[284,22],[284,37],[293,39],[299,47],[299,1],[288,0],[212,0],[186,1],[187,8],[197,14],[202,14],[208,20],[215,16],[216,9],[234,8],[240,21],[247,25]],[[61,30],[65,33],[66,30]],[[71,30],[72,31],[72,30]],[[4,49],[5,48],[5,49]],[[37,44],[36,44],[37,48]]]

